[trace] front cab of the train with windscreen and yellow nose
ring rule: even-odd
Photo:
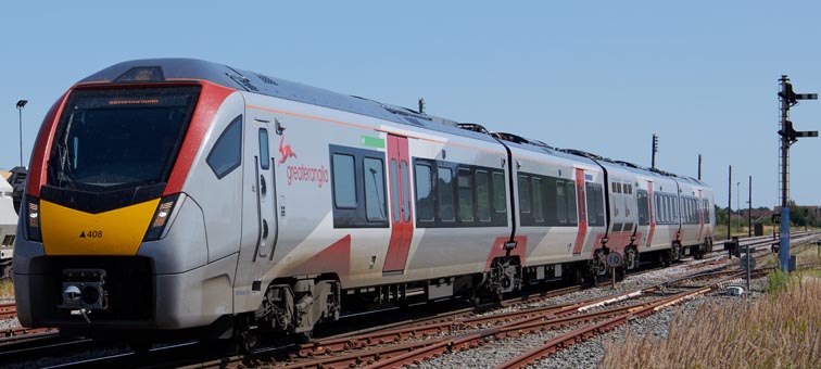
[[[79,85],[58,101],[17,226],[21,323],[230,333],[243,113],[240,93],[204,81]]]

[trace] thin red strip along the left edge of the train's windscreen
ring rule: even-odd
[[[71,91],[71,90],[70,90]],[[37,139],[35,140],[35,147],[31,151],[31,161],[28,164],[28,183],[26,184],[26,193],[39,198],[40,187],[46,183],[46,156],[51,153],[51,143],[54,141],[54,131],[56,130],[60,115],[63,112],[63,105],[68,97],[68,92],[63,96],[51,105],[49,113],[46,114],[46,118],[42,119],[40,125],[40,131],[37,132]]]

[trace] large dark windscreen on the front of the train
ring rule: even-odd
[[[50,186],[106,192],[165,182],[199,87],[76,90],[60,119]]]

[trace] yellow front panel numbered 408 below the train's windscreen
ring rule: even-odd
[[[136,255],[160,199],[89,214],[40,202],[46,255]]]

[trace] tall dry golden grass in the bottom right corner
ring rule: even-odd
[[[821,368],[821,279],[794,272],[782,280],[780,292],[754,304],[713,302],[677,313],[667,339],[608,342],[599,367]]]

